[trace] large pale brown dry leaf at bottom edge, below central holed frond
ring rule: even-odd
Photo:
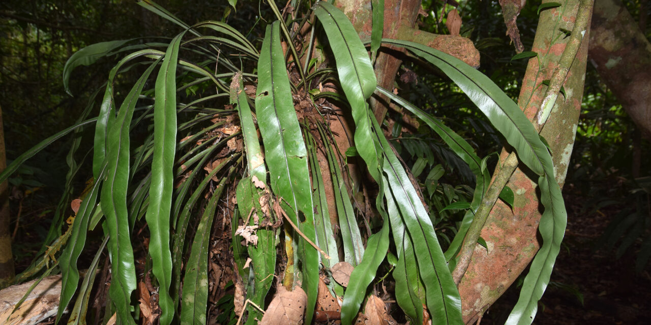
[[[260,325],[298,325],[303,324],[303,313],[307,304],[307,294],[300,287],[294,288],[294,291],[287,291],[284,287],[278,287],[271,304],[264,317],[260,320]]]

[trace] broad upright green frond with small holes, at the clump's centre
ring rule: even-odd
[[[279,21],[267,27],[260,60],[255,107],[264,142],[271,189],[294,224],[314,242],[314,211],[307,149],[301,135],[290,83],[285,68]],[[302,214],[305,221],[299,222]],[[319,255],[305,240],[299,240],[303,266],[303,290],[307,292],[305,323],[309,324],[318,291]]]

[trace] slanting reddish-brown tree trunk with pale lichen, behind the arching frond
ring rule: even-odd
[[[558,8],[540,13],[532,49],[538,53],[540,60],[529,60],[518,100],[520,108],[534,123],[547,90],[547,86],[541,83],[551,79],[559,67],[569,39],[563,37],[559,28],[568,31],[574,29],[578,6],[578,0],[568,0]],[[553,153],[555,178],[561,186],[570,162],[581,110],[587,49],[588,38],[584,37],[563,85],[566,98],[559,96],[541,132]],[[507,155],[508,152],[503,150],[498,166]],[[482,229],[481,237],[486,240],[488,250],[480,245],[475,247],[471,265],[459,285],[467,324],[477,320],[508,289],[540,247],[536,239],[541,216],[536,193],[537,175],[530,177],[532,174],[520,168],[514,172],[507,184],[515,194],[513,209],[497,201]]]

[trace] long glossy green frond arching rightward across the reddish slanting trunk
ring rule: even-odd
[[[549,151],[518,105],[483,73],[462,60],[421,44],[389,39],[384,39],[383,42],[406,47],[439,67],[505,136],[508,143],[516,149],[518,159],[540,175],[540,201],[545,211],[540,218],[538,231],[543,242],[531,263],[518,303],[508,318],[508,324],[531,324],[536,315],[538,300],[549,283],[567,225],[565,203],[561,188],[554,178]]]

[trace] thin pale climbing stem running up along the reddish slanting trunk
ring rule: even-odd
[[[570,72],[572,62],[574,62],[574,58],[579,51],[579,47],[581,47],[581,42],[587,32],[587,28],[589,27],[588,23],[591,14],[592,0],[581,0],[577,10],[574,28],[572,29],[572,35],[561,55],[559,66],[556,68],[549,81],[549,87],[544,96],[544,101],[540,105],[538,113],[536,113],[538,118],[533,122],[538,133],[540,133],[540,130],[544,127],[547,117],[549,116],[549,114],[546,114],[545,110],[547,107],[550,107],[549,110],[551,111],[551,107],[553,107],[554,102],[558,98],[561,86],[565,82],[568,72]],[[477,239],[479,238],[484,224],[486,224],[486,220],[488,220],[488,215],[493,209],[493,205],[495,205],[497,198],[499,198],[499,193],[502,191],[502,188],[505,187],[506,182],[508,182],[517,167],[518,157],[515,152],[511,152],[499,168],[499,172],[495,173],[493,182],[488,188],[486,196],[484,196],[482,203],[477,209],[477,213],[475,213],[475,218],[473,218],[473,222],[465,235],[464,244],[462,245],[461,251],[458,255],[458,263],[452,272],[452,278],[456,285],[459,285],[461,279],[464,277],[465,271],[470,265],[473,252],[475,251],[475,245],[477,244]]]

